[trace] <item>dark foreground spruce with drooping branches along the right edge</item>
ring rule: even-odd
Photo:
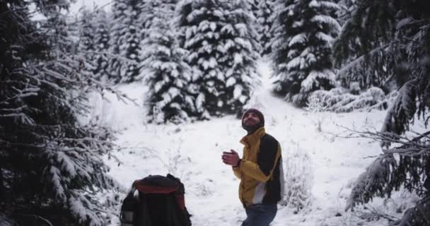
[[[380,11],[380,8],[385,10]],[[372,138],[382,141],[384,153],[359,177],[347,205],[347,208],[353,208],[356,204],[371,201],[374,196],[390,196],[400,188],[422,197],[417,206],[407,210],[402,220],[393,225],[430,224],[427,214],[430,206],[430,131],[415,134],[412,138],[405,137],[407,133],[400,136],[417,115],[429,120],[429,21],[429,1],[358,1],[358,8],[337,40],[337,59],[341,59],[340,56],[347,59],[357,51],[368,56],[357,61],[371,61],[380,51],[393,56],[387,59],[396,66],[396,82],[401,88],[380,133],[371,134]],[[361,43],[359,47],[352,44],[357,39]],[[380,48],[379,42],[383,42],[384,48]],[[354,66],[354,62],[347,66]],[[374,169],[384,169],[385,172]]]

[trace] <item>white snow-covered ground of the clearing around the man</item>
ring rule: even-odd
[[[384,218],[344,212],[354,179],[379,155],[378,143],[365,138],[343,138],[346,128],[358,131],[378,130],[385,112],[348,114],[310,113],[274,97],[269,91],[269,69],[259,65],[262,85],[255,90],[250,107],[265,114],[266,131],[281,143],[284,164],[294,153],[306,153],[313,182],[310,206],[294,213],[290,206],[279,206],[272,225],[388,225]],[[149,174],[167,173],[180,177],[185,184],[186,206],[192,225],[240,225],[245,211],[238,199],[239,181],[231,167],[223,164],[221,153],[234,149],[242,153],[239,143],[245,131],[234,116],[197,121],[184,125],[154,125],[144,122],[146,88],[134,83],[120,87],[138,105],[125,104],[114,97],[110,102],[95,101],[93,117],[121,133],[116,143],[122,147],[113,153],[122,164],[106,160],[110,174],[129,188],[135,179]],[[318,121],[321,131],[318,131]],[[285,169],[285,166],[284,166]],[[313,178],[313,179],[312,179]],[[397,193],[394,198],[376,198],[368,208],[397,217],[410,197]],[[114,223],[115,225],[116,223]]]

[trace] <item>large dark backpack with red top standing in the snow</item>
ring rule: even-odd
[[[121,226],[191,226],[180,179],[167,174],[136,180],[122,201]]]

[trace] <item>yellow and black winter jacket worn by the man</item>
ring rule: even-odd
[[[240,179],[239,198],[244,206],[277,203],[284,195],[284,172],[279,142],[261,127],[244,136],[243,157],[233,172]]]

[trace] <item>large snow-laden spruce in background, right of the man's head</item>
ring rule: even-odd
[[[298,106],[314,90],[335,86],[332,40],[340,30],[335,1],[278,0],[272,61],[274,92]]]

